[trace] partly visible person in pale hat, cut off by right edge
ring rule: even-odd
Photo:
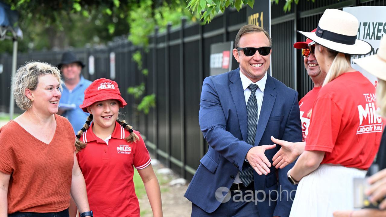
[[[362,69],[378,78],[377,86],[377,104],[380,107],[379,113],[386,117],[386,37],[381,39],[378,53],[361,59],[354,59],[354,63],[358,64]],[[384,137],[381,143],[384,143]],[[384,161],[385,152],[378,152],[377,163]],[[383,169],[372,175],[368,181],[371,187],[366,192],[371,196],[371,201],[376,202],[381,200],[379,209],[361,209],[355,211],[337,211],[334,212],[334,217],[381,217],[386,216],[386,169],[384,163],[380,163],[380,168]]]

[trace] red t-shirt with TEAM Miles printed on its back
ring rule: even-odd
[[[307,151],[325,151],[322,164],[367,170],[381,140],[375,88],[359,71],[323,86],[312,107]]]

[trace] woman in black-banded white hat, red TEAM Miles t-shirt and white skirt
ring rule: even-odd
[[[350,55],[371,51],[370,44],[356,39],[358,26],[353,15],[327,9],[316,32],[299,31],[316,43],[315,57],[327,76],[305,144],[287,146],[303,147],[288,171],[289,181],[299,184],[290,217],[332,217],[336,210],[352,210],[353,200],[347,198],[353,195],[352,180],[366,175],[378,151],[382,120],[375,112],[375,88],[350,65]],[[287,153],[276,160],[287,161]]]

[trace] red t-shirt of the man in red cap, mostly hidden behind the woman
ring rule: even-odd
[[[308,134],[308,127],[310,127],[310,117],[308,117],[308,112],[310,112],[313,103],[319,93],[321,86],[314,87],[310,92],[308,92],[301,100],[299,101],[300,108],[300,120],[301,120],[301,131],[303,134],[303,142],[306,141]]]

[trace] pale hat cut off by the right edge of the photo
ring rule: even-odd
[[[381,39],[377,54],[352,61],[370,74],[386,81],[386,36]]]

